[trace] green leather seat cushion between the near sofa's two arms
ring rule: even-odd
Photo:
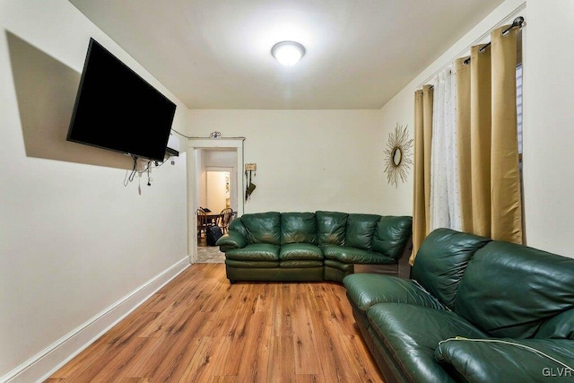
[[[434,359],[439,342],[455,336],[487,336],[452,311],[404,303],[376,304],[367,317],[410,381],[454,381]]]

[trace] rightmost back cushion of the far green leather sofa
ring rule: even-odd
[[[380,217],[371,250],[398,259],[413,236],[413,217]]]

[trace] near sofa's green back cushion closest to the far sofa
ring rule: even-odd
[[[491,239],[437,229],[422,241],[411,275],[449,309],[455,306],[458,284],[474,253]]]

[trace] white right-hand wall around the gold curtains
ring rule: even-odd
[[[465,48],[483,39],[485,32],[520,8],[521,0],[507,0],[463,39],[419,74],[382,109],[383,126],[408,121],[413,126],[414,91]],[[574,144],[574,14],[571,0],[528,0],[523,30],[524,51],[524,183],[526,243],[574,257],[569,238],[574,231],[574,170],[570,164]],[[400,195],[412,204],[412,195]]]

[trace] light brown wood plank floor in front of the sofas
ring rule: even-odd
[[[338,283],[191,265],[47,382],[381,382]]]

